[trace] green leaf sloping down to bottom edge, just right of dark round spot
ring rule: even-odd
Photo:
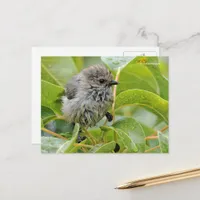
[[[127,153],[137,152],[138,148],[133,140],[129,137],[127,133],[125,133],[121,129],[116,129],[117,135],[119,137],[119,141],[121,141],[124,145],[124,148],[127,149]],[[121,146],[120,146],[121,149]]]

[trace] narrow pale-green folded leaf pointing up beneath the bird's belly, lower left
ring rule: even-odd
[[[74,147],[74,143],[76,143],[76,140],[77,140],[77,137],[78,137],[78,133],[79,133],[79,128],[80,128],[80,125],[78,123],[76,123],[75,126],[74,126],[73,135],[72,135],[71,140],[68,140],[67,142],[65,142],[58,149],[57,153],[70,153],[70,151]]]

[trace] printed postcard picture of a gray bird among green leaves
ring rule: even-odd
[[[42,56],[42,153],[168,153],[168,57]]]

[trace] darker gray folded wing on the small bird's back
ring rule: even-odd
[[[79,76],[73,76],[72,79],[66,84],[66,96],[68,99],[73,99],[76,96],[79,88],[80,78]]]

